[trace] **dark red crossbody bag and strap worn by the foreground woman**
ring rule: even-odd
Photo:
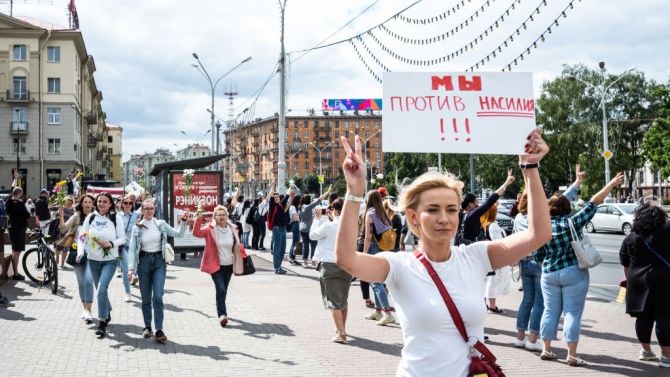
[[[480,342],[477,338],[474,338],[476,340],[474,344],[470,342],[468,333],[465,331],[465,324],[463,323],[461,314],[458,312],[456,304],[454,304],[454,301],[451,299],[449,292],[447,292],[447,288],[444,286],[444,283],[442,283],[442,280],[437,275],[437,272],[430,264],[428,259],[426,259],[426,257],[419,250],[414,250],[414,256],[424,265],[424,267],[426,267],[428,274],[433,279],[433,282],[435,282],[437,289],[440,291],[440,295],[442,296],[444,303],[447,305],[447,309],[449,309],[449,314],[451,315],[451,319],[454,321],[454,325],[463,337],[463,341],[465,341],[465,343],[470,346],[471,363],[468,377],[505,377],[505,373],[503,373],[500,366],[496,364],[496,357],[493,356],[493,353],[491,353],[488,348],[486,348],[484,343]],[[475,350],[479,351],[481,356],[477,356]]]

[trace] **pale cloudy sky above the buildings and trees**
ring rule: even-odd
[[[7,2],[0,1],[0,11],[9,13],[9,5],[2,4]],[[68,3],[29,5],[17,0],[14,15],[66,26]],[[369,70],[379,77],[384,69],[463,71],[494,50],[496,57],[477,70],[500,71],[511,63],[515,72],[533,73],[536,95],[542,81],[559,75],[563,64],[597,68],[599,61],[605,61],[611,73],[635,66],[657,81],[670,79],[667,0],[574,0],[572,8],[570,0],[546,0],[546,5],[542,0],[465,0],[462,6],[455,0],[282,3],[286,3],[285,46],[292,61],[286,107],[294,113],[319,109],[324,98],[381,98],[382,85]],[[278,111],[279,79],[273,76],[280,52],[277,0],[77,0],[76,7],[88,53],[96,62],[103,110],[108,121],[124,128],[124,161],[157,147],[176,150],[175,144],[183,148],[200,139],[209,144],[209,135],[202,136],[210,127],[206,112],[211,106],[210,86],[192,67],[193,52],[215,79],[252,57],[219,83],[218,117],[228,118],[223,93],[231,89],[238,93],[234,114],[252,104],[254,117]],[[408,7],[402,16],[424,21],[389,20]],[[493,32],[483,35],[491,27]],[[449,36],[444,40],[423,45],[398,40],[445,33]],[[355,46],[362,59],[351,43],[336,43],[357,35],[361,38]],[[541,35],[545,41],[537,41],[533,48]],[[475,39],[474,48],[460,53]],[[328,44],[333,45],[302,52]],[[531,54],[521,60],[519,55],[529,47]],[[457,51],[459,56],[432,67],[391,56],[431,60]]]

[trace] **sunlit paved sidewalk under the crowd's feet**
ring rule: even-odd
[[[266,247],[269,238],[266,238]],[[288,253],[287,253],[288,254]],[[80,319],[81,306],[71,269],[59,271],[57,295],[32,282],[2,282],[0,290],[16,303],[0,308],[0,376],[392,376],[400,359],[397,324],[376,326],[363,319],[360,289],[350,291],[349,343],[332,343],[334,325],[323,309],[314,269],[285,263],[287,275],[273,273],[270,253],[251,252],[257,273],[233,277],[228,296],[230,324],[216,318],[214,285],[199,271],[198,258],[177,259],[168,267],[165,332],[159,344],[144,339],[139,289],[123,302],[121,279],[114,278],[114,310],[109,336],[95,337],[95,325]],[[514,283],[514,288],[517,283]],[[654,362],[637,360],[634,322],[617,303],[589,300],[579,354],[583,368],[563,363],[565,343],[554,342],[559,361],[513,347],[521,293],[499,298],[504,315],[489,315],[490,348],[508,376],[670,376]],[[96,307],[94,306],[94,313]],[[559,334],[559,337],[562,335]],[[658,347],[654,343],[658,354]],[[444,350],[448,352],[448,350]]]

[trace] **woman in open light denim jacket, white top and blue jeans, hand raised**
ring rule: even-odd
[[[144,329],[142,336],[151,338],[151,307],[154,309],[157,342],[167,340],[163,332],[163,289],[167,266],[163,250],[168,237],[183,237],[189,216],[188,209],[181,218],[179,231],[169,226],[164,220],[154,218],[156,205],[153,200],[142,203],[143,218],[133,227],[128,249],[128,279],[132,279],[135,270],[140,277],[140,293],[142,295],[142,316]]]

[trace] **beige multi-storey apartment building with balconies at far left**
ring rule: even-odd
[[[0,14],[0,188],[10,188],[17,165],[31,196],[73,170],[104,174],[95,71],[79,30]]]

